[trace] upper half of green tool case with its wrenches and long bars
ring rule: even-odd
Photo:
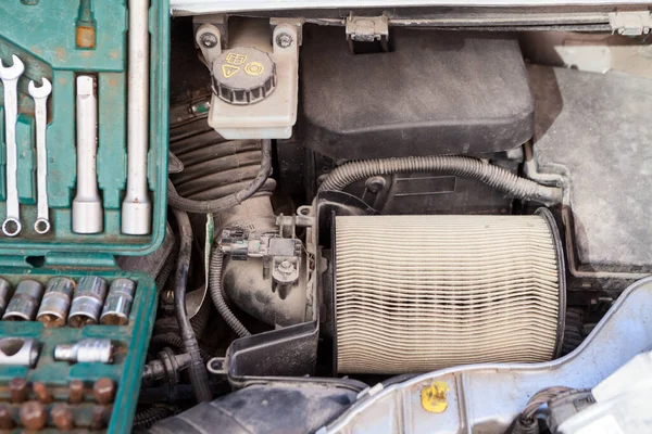
[[[167,1],[2,12],[22,25],[0,28],[0,254],[153,251],[165,234]]]

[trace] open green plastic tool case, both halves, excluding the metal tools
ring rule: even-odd
[[[9,418],[15,423],[16,431],[26,429],[21,420],[25,403],[12,398],[15,390],[12,391],[10,383],[23,380],[26,382],[24,399],[40,401],[46,410],[43,430],[60,427],[52,411],[58,404],[65,404],[76,429],[131,430],[141,369],[154,321],[156,290],[149,276],[120,270],[114,255],[147,255],[156,250],[165,234],[166,219],[170,15],[167,0],[149,3],[149,143],[147,170],[142,175],[151,203],[151,224],[147,233],[133,234],[125,233],[122,221],[122,203],[128,189],[127,130],[130,127],[128,0],[0,1],[0,59],[4,67],[12,65],[14,56],[24,64],[24,72],[17,79],[15,126],[15,190],[22,229],[13,237],[0,233],[0,278],[9,283],[13,295],[21,281],[34,280],[46,288],[57,277],[72,279],[77,285],[75,292],[79,279],[89,276],[103,279],[108,288],[120,278],[135,283],[126,324],[95,324],[91,321],[84,327],[72,327],[70,322],[46,327],[36,318],[0,320],[0,353],[7,352],[2,348],[2,340],[8,337],[35,339],[39,347],[38,359],[32,367],[0,365],[0,425]],[[80,113],[82,76],[90,77],[97,122],[92,113]],[[50,228],[39,233],[35,222],[41,216],[38,194],[43,190],[38,188],[37,117],[41,112],[29,84],[33,80],[32,86],[42,90],[46,86],[42,78],[51,84],[46,105],[45,141]],[[11,214],[8,209],[11,207],[8,206],[11,202],[11,186],[8,186],[11,164],[4,87],[3,81],[0,85],[0,224]],[[73,202],[82,195],[77,184],[77,162],[80,158],[92,162],[96,157],[79,154],[82,124],[96,129],[97,139],[90,141],[97,143],[97,174],[91,175],[97,177],[101,200],[98,214],[101,228],[96,231],[76,230],[73,221]],[[84,218],[75,217],[82,225],[86,224],[87,217],[92,217],[86,208],[84,212]],[[111,340],[111,362],[55,360],[57,345],[84,340]],[[108,381],[115,387],[109,404],[100,404],[97,399],[93,387],[98,386],[98,380]],[[82,387],[82,401],[77,397],[73,403],[72,383]],[[38,390],[42,385],[49,395],[45,399],[43,392]],[[98,418],[102,420],[98,422]]]

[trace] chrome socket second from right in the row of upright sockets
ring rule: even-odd
[[[106,281],[95,276],[79,279],[77,291],[73,298],[68,326],[80,328],[97,324],[106,296]]]

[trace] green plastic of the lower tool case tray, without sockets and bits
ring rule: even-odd
[[[129,312],[127,326],[85,326],[80,329],[71,327],[45,328],[38,321],[14,322],[0,321],[0,337],[35,337],[41,342],[40,356],[34,368],[12,366],[0,367],[0,403],[7,404],[12,418],[20,426],[18,411],[21,404],[11,403],[9,382],[14,378],[26,379],[28,385],[42,382],[48,385],[54,401],[47,405],[48,429],[53,429],[50,409],[58,403],[68,403],[68,384],[71,380],[82,380],[85,383],[84,403],[70,405],[73,412],[75,427],[90,429],[95,412],[99,410],[104,414],[103,429],[111,433],[128,433],[138,392],[140,388],[140,373],[145,363],[145,355],[153,324],[152,312],[155,309],[155,286],[153,280],[141,273],[115,271],[71,271],[53,275],[49,271],[32,271],[29,275],[16,275],[9,269],[0,269],[0,276],[15,285],[23,279],[36,280],[46,285],[54,276],[65,276],[78,280],[82,276],[98,276],[109,283],[115,278],[127,278],[136,282],[134,303]],[[55,361],[53,359],[54,346],[58,344],[74,343],[80,339],[98,337],[111,339],[114,343],[113,362],[77,362]],[[93,383],[109,378],[116,385],[115,399],[111,405],[101,406],[92,396]],[[27,387],[27,399],[36,399],[32,387]]]

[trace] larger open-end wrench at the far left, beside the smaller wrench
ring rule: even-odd
[[[10,67],[4,67],[0,60],[0,79],[2,79],[2,86],[4,87],[4,131],[7,138],[7,218],[2,224],[2,232],[7,237],[15,237],[23,229],[16,181],[18,166],[16,122],[18,118],[18,77],[25,71],[25,65],[15,54],[11,59],[13,65]]]

